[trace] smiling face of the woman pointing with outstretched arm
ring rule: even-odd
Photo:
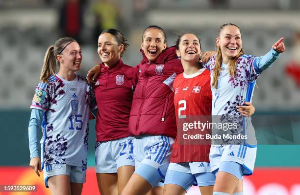
[[[217,46],[221,48],[223,62],[236,57],[242,49],[240,29],[234,25],[225,26],[216,39]]]

